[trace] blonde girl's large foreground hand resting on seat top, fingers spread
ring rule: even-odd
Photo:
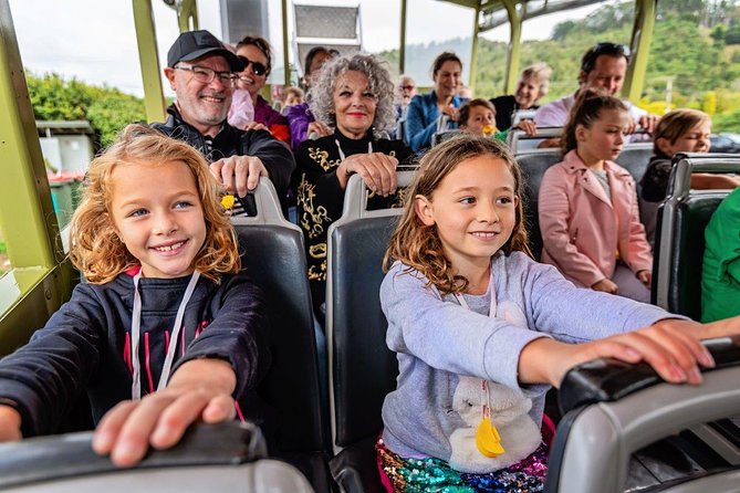
[[[118,466],[140,461],[149,445],[168,449],[196,421],[233,419],[237,377],[220,359],[195,359],[180,366],[167,387],[139,401],[126,400],[111,409],[93,437],[93,449],[111,455]]]

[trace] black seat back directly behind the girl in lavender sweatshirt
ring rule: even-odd
[[[407,186],[414,171],[399,171]],[[383,255],[403,209],[366,210],[367,191],[350,178],[342,217],[329,229],[326,337],[335,451],[383,429],[381,407],[396,387],[398,363],[385,343]]]

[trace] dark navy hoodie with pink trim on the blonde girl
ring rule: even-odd
[[[139,281],[142,395],[156,389],[175,315],[190,277]],[[132,398],[133,276],[77,284],[72,298],[31,342],[0,360],[0,403],[21,413],[24,437],[54,432],[85,390],[97,422]],[[183,363],[210,357],[237,374],[234,398],[247,401],[268,365],[267,324],[260,290],[243,274],[221,284],[200,277],[177,342],[173,375]],[[197,335],[197,337],[196,337]]]

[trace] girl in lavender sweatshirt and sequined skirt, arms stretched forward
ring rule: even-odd
[[[697,365],[713,365],[699,336],[740,331],[577,289],[534,262],[521,187],[502,144],[468,136],[432,148],[409,188],[381,287],[400,371],[376,445],[393,491],[542,491],[544,395],[571,367],[644,359],[699,384]]]

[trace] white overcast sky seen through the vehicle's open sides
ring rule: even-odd
[[[268,1],[273,42],[280,38],[280,3]],[[301,0],[300,3],[359,3],[365,50],[378,52],[398,48],[400,0]],[[152,4],[161,65],[178,34],[177,15],[161,0],[152,0]],[[523,36],[545,39],[557,22],[582,18],[595,8],[528,21]],[[143,94],[131,0],[10,0],[10,9],[23,64],[32,73],[56,72],[65,77]],[[434,0],[408,0],[407,9],[409,44],[467,36],[472,30],[471,9]],[[221,35],[219,0],[199,0],[198,15],[201,29]],[[486,34],[501,41],[508,36],[508,27]]]

